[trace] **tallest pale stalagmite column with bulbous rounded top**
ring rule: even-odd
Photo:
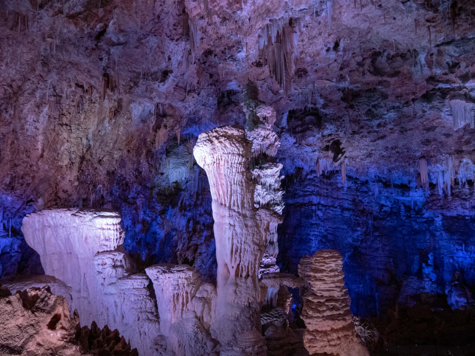
[[[258,271],[268,223],[254,206],[255,185],[247,169],[250,142],[242,127],[223,126],[201,133],[193,153],[208,175],[213,198],[218,298],[212,331],[220,354],[265,355]]]

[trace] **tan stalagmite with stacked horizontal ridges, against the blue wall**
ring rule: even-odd
[[[305,348],[311,355],[368,356],[352,322],[340,253],[320,250],[302,260],[299,274],[306,285],[302,311]]]

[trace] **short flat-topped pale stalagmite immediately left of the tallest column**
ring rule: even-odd
[[[177,356],[217,355],[217,343],[209,335],[215,287],[188,265],[156,264],[145,271],[153,282],[166,350]]]

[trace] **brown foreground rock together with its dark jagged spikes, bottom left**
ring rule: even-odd
[[[1,355],[138,356],[117,329],[101,330],[95,322],[80,328],[66,300],[48,286],[0,297]]]

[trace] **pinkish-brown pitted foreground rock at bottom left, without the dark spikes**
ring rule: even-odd
[[[0,298],[0,310],[0,355],[82,355],[74,344],[79,318],[48,288]]]

